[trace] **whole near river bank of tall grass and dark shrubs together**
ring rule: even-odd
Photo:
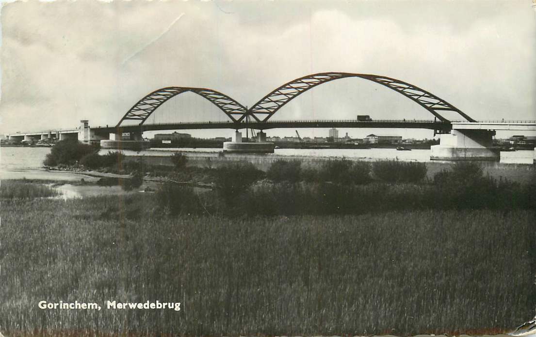
[[[96,169],[159,187],[2,199],[4,334],[496,334],[534,316],[534,185],[475,163],[429,178],[416,162],[278,160],[265,172],[108,156]],[[106,307],[157,300],[181,311]]]

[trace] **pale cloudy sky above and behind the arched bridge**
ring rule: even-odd
[[[326,71],[410,82],[478,120],[536,119],[535,18],[531,0],[3,3],[2,133],[72,127],[80,119],[115,125],[166,86],[211,88],[251,106],[282,83]],[[311,89],[273,119],[356,114],[433,117],[388,88],[351,78]],[[226,118],[189,93],[148,122]]]

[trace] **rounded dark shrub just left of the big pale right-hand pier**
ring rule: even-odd
[[[425,163],[378,160],[373,164],[375,177],[387,182],[419,182],[426,172]]]

